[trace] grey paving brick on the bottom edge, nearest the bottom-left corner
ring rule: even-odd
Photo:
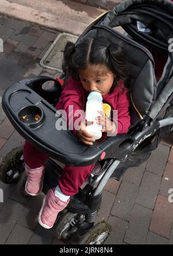
[[[28,244],[33,231],[16,224],[7,238],[5,244]]]

